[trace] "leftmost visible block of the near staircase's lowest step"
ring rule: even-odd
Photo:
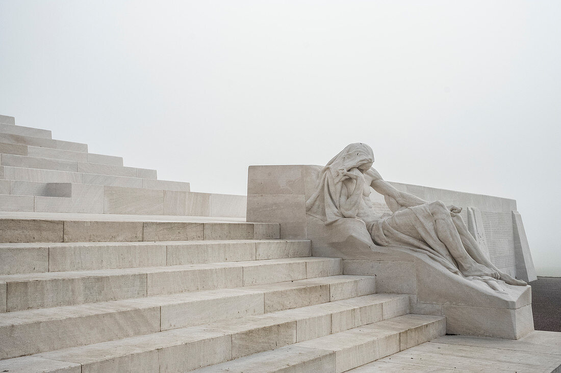
[[[193,373],[335,373],[335,353],[315,348],[286,346],[197,369]]]

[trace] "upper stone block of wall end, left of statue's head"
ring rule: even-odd
[[[249,166],[247,195],[250,194],[304,194],[306,166]]]

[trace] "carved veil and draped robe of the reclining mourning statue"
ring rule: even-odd
[[[370,201],[370,185],[356,167],[374,161],[374,155],[366,144],[347,146],[335,156],[320,173],[318,188],[306,202],[307,214],[330,225],[342,218],[357,218],[365,222],[373,242],[379,246],[398,246],[427,255],[449,271],[463,276],[456,260],[439,239],[435,217],[427,204],[402,207],[393,214],[378,214]],[[459,215],[452,213],[452,221],[458,230],[467,253],[477,262],[496,271],[496,267],[484,258],[473,236],[468,232]],[[487,276],[470,277],[489,282]]]

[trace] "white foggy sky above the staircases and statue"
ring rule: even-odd
[[[559,1],[0,0],[0,114],[195,192],[374,148],[387,180],[514,198],[561,276]]]

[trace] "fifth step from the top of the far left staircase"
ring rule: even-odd
[[[22,167],[24,169],[57,170],[80,172],[82,174],[100,174],[126,176],[128,178],[157,179],[157,171],[136,167],[104,165],[88,162],[65,161],[52,158],[30,157],[13,154],[0,155],[3,166]]]

